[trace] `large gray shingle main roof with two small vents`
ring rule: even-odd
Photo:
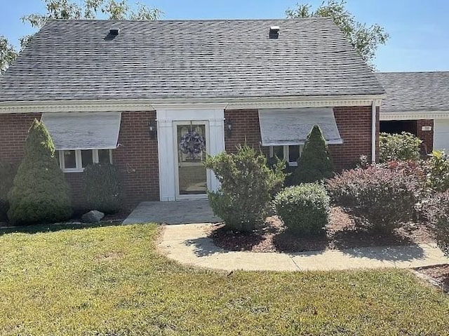
[[[51,20],[0,77],[0,102],[383,92],[328,18]]]

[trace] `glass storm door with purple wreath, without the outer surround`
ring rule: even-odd
[[[208,151],[208,123],[177,121],[174,128],[176,199],[206,198],[208,173],[203,162]]]

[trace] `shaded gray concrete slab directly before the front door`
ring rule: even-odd
[[[142,202],[123,221],[137,223],[216,223],[220,218],[213,215],[207,199],[176,202]]]

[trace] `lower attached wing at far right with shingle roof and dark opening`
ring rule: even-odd
[[[449,151],[449,72],[381,72],[387,91],[380,111],[380,131],[413,133],[423,152]]]

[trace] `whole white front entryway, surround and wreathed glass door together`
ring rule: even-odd
[[[225,150],[224,120],[223,107],[156,106],[161,201],[206,199],[208,190],[218,189],[220,183],[203,162],[206,154]]]

